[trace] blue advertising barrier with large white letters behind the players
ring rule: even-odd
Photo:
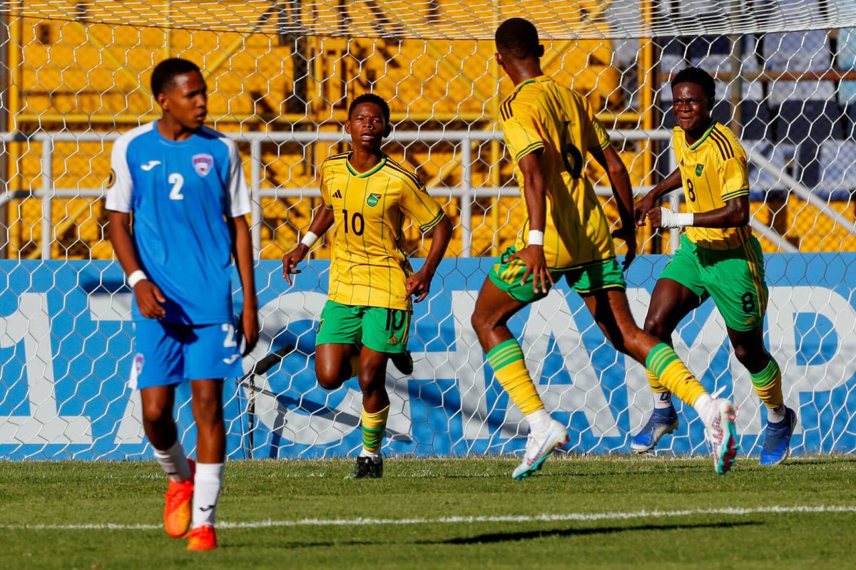
[[[644,256],[628,273],[637,320],[668,261]],[[417,264],[419,261],[417,261]],[[492,260],[446,259],[435,290],[416,306],[412,377],[390,367],[388,454],[467,455],[521,450],[519,412],[492,378],[469,326]],[[794,453],[856,449],[856,254],[766,258],[770,349],[782,366],[786,402],[799,409]],[[262,261],[262,336],[246,375],[227,382],[229,457],[329,457],[360,445],[354,379],[327,392],[315,383],[313,351],[329,261],[310,261],[294,286]],[[131,294],[109,261],[0,261],[0,456],[8,459],[125,459],[151,456],[139,394],[128,383],[133,352]],[[442,287],[439,284],[443,284]],[[240,306],[236,304],[236,306]],[[564,284],[512,322],[544,402],[567,421],[568,450],[626,452],[652,406],[644,370],[606,343],[579,296]],[[712,303],[687,317],[677,351],[710,391],[740,405],[742,449],[758,453],[764,412],[734,360]],[[187,387],[179,390],[182,438],[195,433]],[[703,426],[688,408],[663,452],[704,451]]]

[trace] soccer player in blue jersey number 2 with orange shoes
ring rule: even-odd
[[[169,475],[163,524],[173,537],[189,528],[187,548],[208,550],[217,548],[214,516],[223,481],[223,379],[242,374],[239,334],[245,355],[259,338],[244,219],[250,197],[235,143],[203,125],[207,95],[199,68],[178,58],[158,63],[152,95],[161,118],[113,146],[110,241],[134,290],[131,382],[140,389],[146,436]],[[237,333],[233,256],[244,298]],[[173,418],[175,385],[188,381],[195,464]]]

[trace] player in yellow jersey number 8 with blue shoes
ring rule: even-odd
[[[663,270],[645,317],[645,331],[671,344],[678,323],[708,297],[713,297],[728,328],[728,338],[752,385],[767,408],[762,465],[788,457],[796,426],[794,410],[782,399],[782,373],[764,346],[767,285],[764,257],[749,227],[749,172],[746,152],[734,133],[710,117],[716,84],[710,74],[687,68],[672,80],[672,112],[678,126],[672,138],[678,167],[656,185],[635,208],[636,223],[653,227],[686,227],[681,246]],[[684,188],[687,213],[657,204]],[[674,432],[678,416],[671,392],[649,374],[655,394],[651,418],[631,443],[644,453],[666,433]]]

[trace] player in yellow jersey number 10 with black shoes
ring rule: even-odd
[[[412,361],[402,366],[395,360],[407,351],[411,297],[419,303],[428,295],[452,235],[449,218],[419,177],[383,154],[383,138],[391,129],[389,105],[381,97],[354,99],[345,123],[351,151],[330,156],[321,165],[324,208],[300,244],[282,257],[290,284],[291,275],[300,273],[295,267],[318,236],[336,225],[330,298],[321,314],[315,372],[327,390],[359,376],[363,448],[350,475],[354,479],[383,475],[380,450],[389,415],[386,363],[392,357],[396,366],[413,372]],[[431,250],[416,273],[401,250],[406,217],[422,232],[434,232]]]

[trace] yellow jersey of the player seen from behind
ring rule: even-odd
[[[500,106],[505,145],[520,191],[524,156],[541,153],[547,194],[544,257],[552,269],[569,269],[615,257],[609,222],[586,176],[586,151],[600,152],[609,137],[586,97],[541,75],[517,85]],[[522,202],[526,212],[526,200]],[[526,247],[529,214],[515,247]]]

